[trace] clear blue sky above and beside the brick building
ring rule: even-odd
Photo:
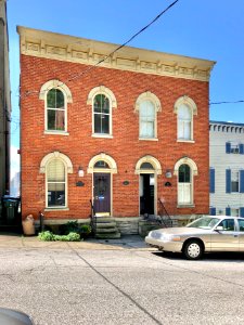
[[[12,145],[18,147],[16,25],[124,43],[172,0],[8,0]],[[129,46],[217,61],[210,102],[244,100],[244,1],[179,0]],[[210,106],[210,119],[244,122],[244,103]]]

